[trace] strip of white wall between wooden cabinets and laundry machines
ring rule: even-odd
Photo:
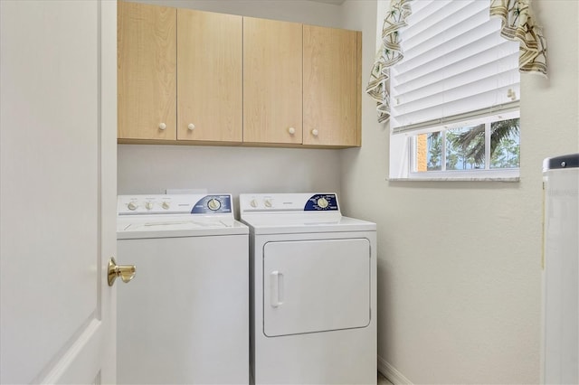
[[[338,191],[338,150],[119,145],[119,193]]]

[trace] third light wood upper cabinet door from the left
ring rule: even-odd
[[[301,144],[302,24],[243,18],[243,141]]]

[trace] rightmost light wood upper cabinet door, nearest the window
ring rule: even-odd
[[[361,33],[304,25],[304,145],[360,146]]]

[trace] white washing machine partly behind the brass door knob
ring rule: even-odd
[[[118,381],[249,382],[248,228],[230,194],[121,195]]]

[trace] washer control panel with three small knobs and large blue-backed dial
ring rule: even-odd
[[[151,194],[119,195],[119,215],[151,214],[231,214],[231,194]]]

